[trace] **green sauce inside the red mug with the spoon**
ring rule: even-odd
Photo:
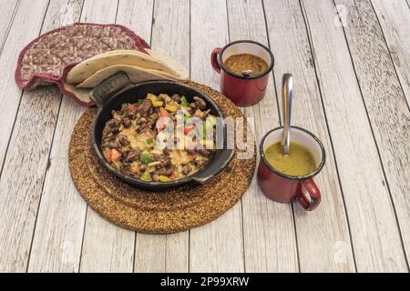
[[[278,142],[265,149],[269,164],[279,172],[290,176],[306,176],[316,169],[312,153],[300,144],[291,142],[288,156],[283,155],[283,144]]]

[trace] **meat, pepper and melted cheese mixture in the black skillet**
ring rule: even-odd
[[[200,97],[189,103],[183,95],[148,94],[111,115],[101,148],[106,161],[126,176],[174,181],[197,173],[214,156],[216,117]]]

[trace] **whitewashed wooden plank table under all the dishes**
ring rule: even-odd
[[[410,6],[406,0],[1,0],[0,272],[408,272]],[[219,89],[210,51],[269,45],[268,92],[243,109],[259,142],[281,125],[282,74],[295,78],[293,125],[327,163],[312,213],[268,200],[253,179],[206,226],[167,236],[110,224],[77,194],[67,166],[84,108],[56,87],[21,91],[16,57],[61,25],[127,25]]]

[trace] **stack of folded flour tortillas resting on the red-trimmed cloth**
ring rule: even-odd
[[[74,66],[65,83],[72,90],[87,92],[110,75],[124,72],[132,83],[149,80],[186,80],[188,70],[169,56],[147,49],[149,55],[136,50],[115,50],[95,55]]]

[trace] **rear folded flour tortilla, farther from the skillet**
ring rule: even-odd
[[[188,74],[179,75],[177,72],[182,72],[180,69],[180,67],[182,67],[181,65],[178,66],[178,69],[174,69],[163,60],[166,60],[166,57],[162,56],[161,59],[157,59],[151,55],[134,50],[110,51],[104,54],[95,55],[74,66],[70,72],[68,72],[66,82],[69,84],[82,83],[88,77],[95,75],[98,71],[112,65],[134,65],[143,69],[153,69],[169,75],[175,75],[178,78],[188,77]],[[173,64],[178,64],[178,62],[174,61]]]

